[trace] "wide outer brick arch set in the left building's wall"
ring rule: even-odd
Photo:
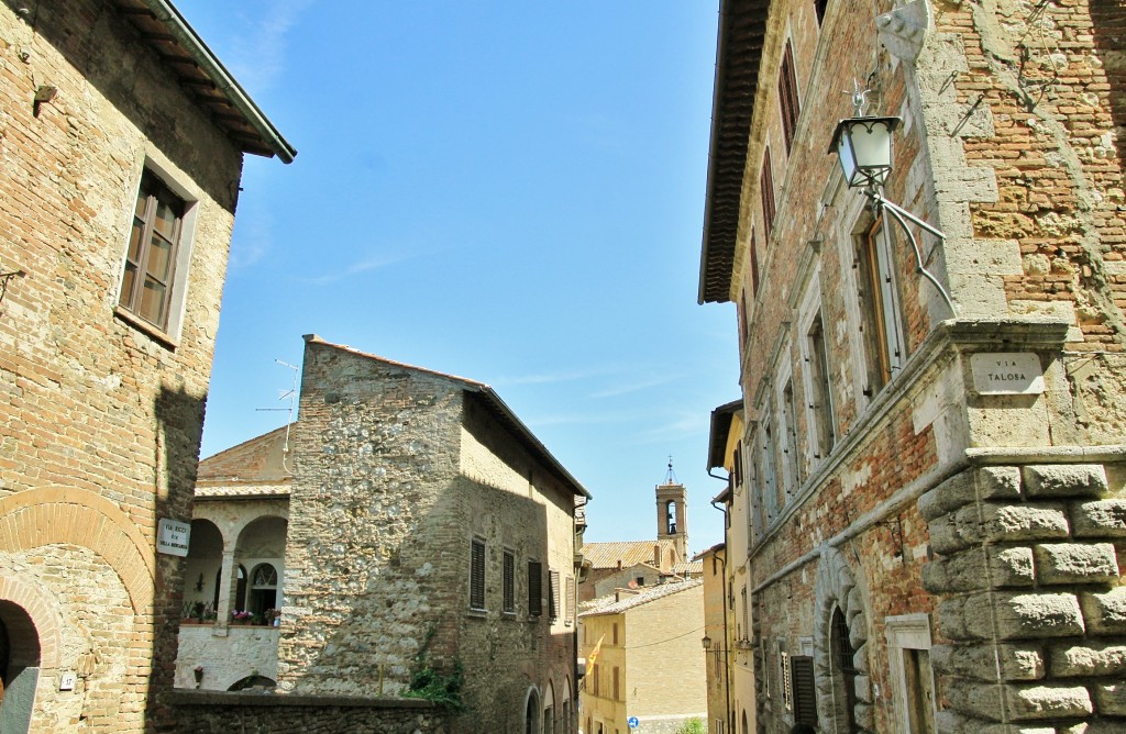
[[[0,550],[69,543],[89,548],[117,573],[134,615],[152,606],[155,558],[150,541],[106,498],[68,486],[42,486],[0,499]]]

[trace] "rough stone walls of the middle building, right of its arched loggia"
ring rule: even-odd
[[[306,338],[278,683],[286,695],[402,696],[419,664],[465,671],[457,731],[519,731],[529,696],[574,715],[573,493],[475,384]],[[565,491],[564,491],[565,490]],[[470,549],[485,601],[470,609]],[[504,550],[516,608],[502,608]],[[528,562],[543,564],[529,614]]]

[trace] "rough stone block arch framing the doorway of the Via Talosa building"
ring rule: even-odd
[[[833,690],[833,612],[840,609],[848,625],[849,644],[856,651],[854,666],[858,671],[857,688],[868,684],[868,615],[865,592],[857,582],[844,554],[838,548],[822,549],[817,565],[817,583],[813,635],[813,671],[817,687],[817,718],[826,732],[837,720],[838,701]],[[858,691],[859,692],[859,691]],[[874,729],[872,696],[857,696],[852,717],[860,732]]]

